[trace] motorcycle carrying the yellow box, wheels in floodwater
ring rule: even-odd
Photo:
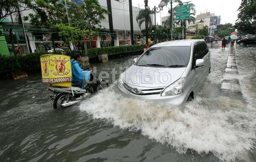
[[[81,82],[72,83],[71,87],[50,87],[52,91],[50,98],[53,101],[53,108],[66,108],[75,105],[83,99],[88,99],[97,91],[107,88],[108,83],[105,80],[96,78],[89,82],[84,89],[81,88]]]

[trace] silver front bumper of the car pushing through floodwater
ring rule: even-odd
[[[188,95],[186,92],[183,92],[175,96],[161,96],[161,94],[138,95],[138,94],[131,93],[126,88],[121,87],[119,85],[116,85],[115,92],[127,98],[147,100],[150,102],[166,103],[166,104],[175,105],[175,106],[184,106],[188,99]]]

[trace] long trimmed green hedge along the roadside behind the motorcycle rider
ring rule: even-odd
[[[106,48],[89,48],[89,58],[97,57],[99,54],[123,54],[128,52],[143,51],[145,45],[127,45],[127,46],[115,46]],[[81,56],[84,56],[83,51],[79,51]],[[48,54],[47,52],[29,53],[26,55],[17,55],[20,64],[20,69],[36,69],[40,68],[40,56]],[[55,53],[59,54],[59,53]],[[67,52],[67,55],[71,55],[72,52]],[[0,73],[10,72],[15,69],[15,59],[13,56],[0,55]]]

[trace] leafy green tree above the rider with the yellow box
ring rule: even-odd
[[[108,11],[99,5],[98,0],[83,1],[84,3],[79,6],[70,1],[66,2],[70,26],[81,30],[99,30],[102,27],[101,20],[105,19]],[[39,7],[36,14],[29,14],[29,17],[25,17],[26,20],[30,20],[32,26],[50,28],[60,23],[69,25],[64,1],[60,3],[59,0],[36,0],[35,2]]]

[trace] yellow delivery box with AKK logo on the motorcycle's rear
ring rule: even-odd
[[[52,86],[71,87],[70,56],[44,54],[40,57],[42,81]]]

